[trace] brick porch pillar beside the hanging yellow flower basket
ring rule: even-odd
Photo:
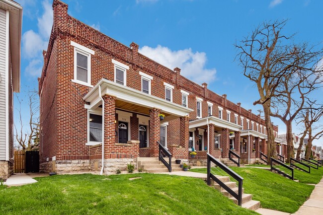
[[[160,110],[153,108],[149,111],[149,147],[150,156],[158,157],[159,155],[159,145],[157,141],[161,140],[161,120],[158,117]]]

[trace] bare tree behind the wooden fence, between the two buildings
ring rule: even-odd
[[[39,145],[39,100],[37,91],[29,91],[27,94],[28,102],[28,125],[25,130],[24,120],[22,117],[22,99],[17,95],[19,106],[18,110],[18,125],[14,124],[15,128],[15,147],[23,151],[38,150]]]

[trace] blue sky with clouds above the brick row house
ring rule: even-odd
[[[21,93],[38,87],[42,50],[52,28],[52,0],[17,0],[23,6]],[[234,61],[235,41],[265,20],[289,19],[295,41],[323,42],[322,0],[64,0],[69,14],[254,113],[258,92]],[[322,99],[323,90],[318,92]],[[16,104],[16,102],[15,102]],[[26,118],[26,117],[25,117]],[[279,134],[286,131],[279,125]],[[294,127],[299,133],[299,129]],[[316,141],[322,144],[323,140]]]

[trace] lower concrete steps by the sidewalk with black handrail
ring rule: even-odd
[[[225,185],[232,188],[233,191],[235,191],[238,194],[238,186],[236,182],[230,181],[229,176],[216,176],[220,181],[222,181]],[[211,181],[213,181],[211,179]],[[228,197],[230,200],[232,200],[235,204],[238,205],[238,200],[234,198],[231,194],[229,194],[228,191],[223,189],[218,183],[213,181],[213,187],[217,190],[219,190],[224,196]],[[252,200],[251,194],[245,194],[244,189],[242,188],[242,208],[246,208],[252,211],[257,210],[260,207],[260,202]]]

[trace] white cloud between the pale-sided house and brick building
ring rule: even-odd
[[[43,14],[37,17],[37,32],[28,30],[22,35],[22,57],[29,60],[26,75],[39,76],[43,66],[42,51],[47,49],[53,26],[53,9],[49,0],[42,1]]]

